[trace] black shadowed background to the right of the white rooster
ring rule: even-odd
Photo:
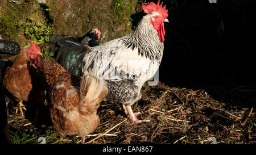
[[[154,1],[155,3],[157,1]],[[168,9],[161,82],[204,89],[232,106],[255,102],[255,1],[163,1]],[[225,32],[216,33],[221,12]]]

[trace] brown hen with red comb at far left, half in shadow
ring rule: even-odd
[[[17,110],[19,109],[23,115],[23,110],[26,110],[23,101],[26,101],[31,107],[37,108],[35,119],[38,108],[46,99],[44,94],[46,83],[39,69],[39,55],[42,53],[37,44],[31,42],[30,45],[23,47],[14,64],[6,69],[3,78],[3,86],[13,94],[15,100],[19,101]]]

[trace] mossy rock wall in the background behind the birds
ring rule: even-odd
[[[100,43],[131,32],[131,14],[135,14],[137,0],[20,0],[20,4],[3,0],[0,3],[0,34],[20,45],[27,43],[24,30],[16,27],[19,21],[52,24],[57,34],[83,36],[97,27],[102,32]],[[46,8],[49,10],[46,11]]]

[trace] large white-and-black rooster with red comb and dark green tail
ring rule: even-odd
[[[123,104],[125,113],[133,123],[139,120],[131,105],[141,98],[144,82],[154,76],[159,68],[164,49],[164,22],[168,22],[168,10],[163,3],[142,5],[144,15],[129,35],[108,41],[96,47],[86,47],[75,41],[52,36],[51,44],[59,47],[56,61],[69,73],[82,76],[86,70],[104,78],[109,88],[109,100]]]

